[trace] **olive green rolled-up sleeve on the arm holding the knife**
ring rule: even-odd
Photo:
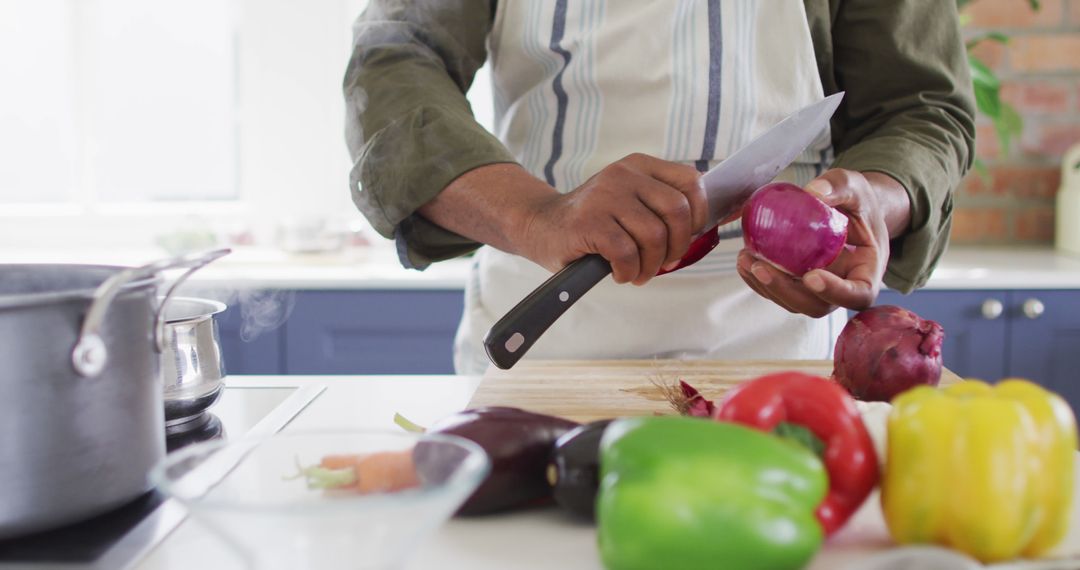
[[[343,85],[352,199],[406,267],[476,248],[417,209],[465,172],[514,160],[464,95],[492,10],[490,0],[372,0],[353,27]]]

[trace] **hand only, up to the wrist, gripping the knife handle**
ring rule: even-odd
[[[571,192],[532,202],[519,252],[552,271],[599,254],[616,283],[643,285],[677,263],[704,229],[700,176],[685,164],[630,154]]]

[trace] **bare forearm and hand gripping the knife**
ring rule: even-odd
[[[521,165],[489,164],[458,177],[420,213],[553,272],[599,254],[617,283],[643,285],[678,263],[704,229],[700,177],[685,164],[630,154],[561,194]]]

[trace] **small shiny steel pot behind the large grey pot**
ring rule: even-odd
[[[225,303],[193,297],[165,303],[161,383],[168,433],[198,423],[221,394],[225,362],[214,315],[225,309]]]

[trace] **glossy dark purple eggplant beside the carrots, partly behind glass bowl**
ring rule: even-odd
[[[465,500],[458,515],[484,515],[550,500],[545,470],[552,446],[579,424],[519,408],[487,407],[443,418],[427,433],[470,439],[487,452],[491,472]],[[441,465],[454,464],[446,446],[417,445],[417,470],[427,480],[441,478]]]

